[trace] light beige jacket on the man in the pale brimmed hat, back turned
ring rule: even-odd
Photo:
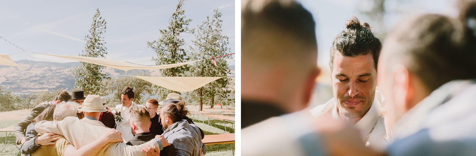
[[[55,133],[64,136],[71,145],[81,148],[106,134],[110,128],[101,121],[88,118],[66,117],[61,121],[40,121],[35,124],[38,133]],[[145,143],[150,147],[159,148],[155,139]],[[108,143],[96,156],[144,156],[140,152],[141,146],[129,146],[123,142]]]

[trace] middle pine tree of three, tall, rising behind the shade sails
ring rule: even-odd
[[[185,49],[186,43],[184,39],[181,38],[181,34],[193,33],[194,30],[187,27],[192,19],[186,19],[185,17],[185,10],[182,9],[184,1],[185,0],[178,0],[176,10],[169,19],[169,26],[165,29],[159,29],[161,37],[155,41],[147,42],[147,46],[157,53],[157,57],[152,57],[152,61],[155,61],[157,65],[176,64],[189,60]],[[174,68],[161,69],[160,73],[162,76],[186,76],[186,72],[189,68],[189,65],[182,65]],[[159,97],[164,100],[167,94],[172,92],[163,87],[154,86],[155,92],[158,92]]]

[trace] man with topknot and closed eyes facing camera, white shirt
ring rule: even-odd
[[[377,60],[382,44],[367,23],[356,17],[334,39],[330,51],[331,82],[334,98],[310,110],[314,116],[332,115],[359,129],[366,146],[387,147],[381,111],[383,97],[376,91]]]

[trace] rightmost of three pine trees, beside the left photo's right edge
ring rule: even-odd
[[[220,19],[221,12],[218,12],[218,9],[213,10],[213,12],[211,18],[207,16],[207,20],[198,26],[195,35],[196,40],[192,41],[195,45],[193,58],[196,60],[229,54],[228,37],[222,34],[221,29],[223,22]],[[226,58],[230,58],[230,55],[215,58],[217,66],[214,65],[211,59],[196,62],[192,64],[192,74],[198,77],[226,76],[227,73],[230,73]],[[200,104],[199,110],[202,110],[205,101],[209,101],[210,108],[213,108],[216,96],[228,97],[228,93],[231,92],[228,90],[229,81],[230,78],[224,77],[195,90],[193,95],[194,99]]]

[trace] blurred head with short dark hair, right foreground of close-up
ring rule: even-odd
[[[378,79],[388,100],[390,125],[441,85],[476,78],[474,29],[467,27],[476,13],[465,12],[462,21],[437,14],[411,18],[387,37]]]

